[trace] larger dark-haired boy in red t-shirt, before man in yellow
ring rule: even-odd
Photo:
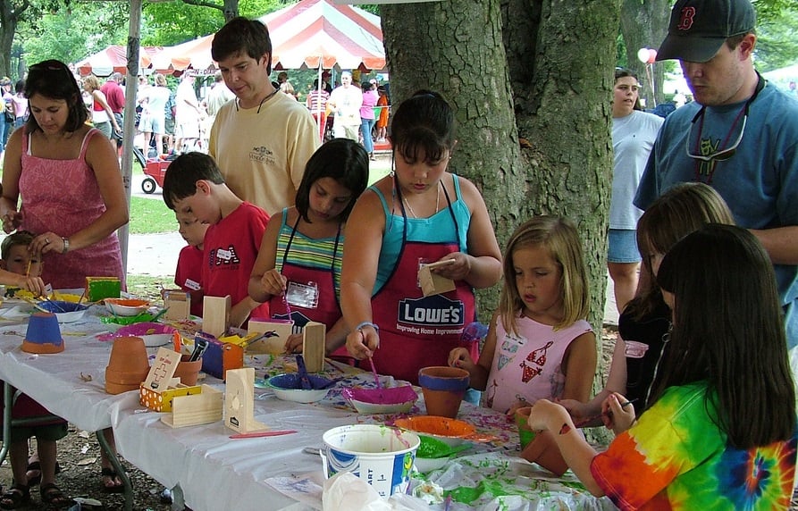
[[[247,323],[250,314],[268,318],[268,304],[250,298],[248,286],[269,215],[237,197],[214,159],[197,152],[180,155],[169,164],[164,202],[176,214],[193,215],[208,224],[201,282],[206,296],[230,295],[231,326]]]

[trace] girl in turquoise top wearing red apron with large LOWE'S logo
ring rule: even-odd
[[[454,112],[440,94],[420,90],[391,123],[394,172],[352,211],[341,275],[349,354],[373,357],[381,373],[418,381],[418,370],[446,365],[475,321],[473,288],[501,277],[501,252],[488,210],[470,181],[447,171],[456,140]],[[418,271],[452,281],[424,296]],[[379,347],[379,349],[377,349]],[[473,359],[478,343],[468,346]]]

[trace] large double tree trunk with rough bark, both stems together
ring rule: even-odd
[[[567,216],[577,225],[600,353],[618,4],[382,6],[392,101],[398,105],[417,88],[447,96],[458,120],[449,168],[482,190],[500,245],[533,214]],[[495,310],[499,288],[480,293],[481,318]],[[600,373],[597,386],[602,379]]]

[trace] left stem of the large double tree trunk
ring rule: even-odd
[[[449,170],[482,190],[503,245],[529,208],[498,0],[382,5],[382,37],[393,105],[431,88],[454,108],[458,145]],[[479,293],[481,321],[496,309],[499,290]]]

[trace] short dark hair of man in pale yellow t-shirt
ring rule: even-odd
[[[239,16],[216,32],[211,41],[211,57],[214,61],[220,62],[235,54],[247,54],[255,60],[269,54],[266,73],[272,73],[272,38],[265,23]]]

